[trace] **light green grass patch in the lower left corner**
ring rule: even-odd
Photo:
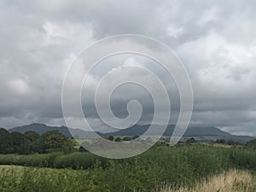
[[[101,191],[88,172],[21,166],[0,166],[1,192]]]

